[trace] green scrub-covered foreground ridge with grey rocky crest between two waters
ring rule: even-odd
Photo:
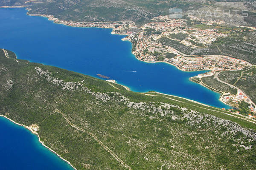
[[[78,170],[126,169],[105,147],[134,170],[255,168],[256,126],[227,111],[16,62],[1,50],[0,61],[0,113],[38,125],[41,140]]]

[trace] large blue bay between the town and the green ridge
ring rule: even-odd
[[[26,12],[0,9],[0,48],[14,51],[19,59],[93,77],[103,74],[132,91],[158,91],[229,108],[218,100],[220,94],[189,80],[206,71],[184,72],[163,62],[142,62],[131,53],[131,42],[122,41],[123,35],[112,35],[111,29],[68,27]]]

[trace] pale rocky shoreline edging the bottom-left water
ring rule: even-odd
[[[23,124],[20,124],[20,123],[17,123],[15,122],[14,120],[10,119],[9,117],[5,116],[5,115],[2,115],[0,114],[0,117],[4,117],[6,119],[8,119],[9,121],[15,123],[16,125],[19,125],[19,126],[23,126],[25,127],[26,129],[28,129],[31,133],[35,134],[36,136],[38,136],[38,141],[44,146],[46,147],[47,149],[49,149],[52,153],[55,153],[55,155],[57,155],[60,159],[64,160],[65,162],[67,162],[74,170],[77,170],[69,161],[67,161],[66,159],[62,158],[58,153],[56,153],[54,150],[52,150],[51,148],[49,148],[47,145],[44,144],[44,142],[42,142],[40,140],[40,136],[38,135],[38,133],[33,130],[31,127],[29,126],[26,126],[26,125],[23,125]]]

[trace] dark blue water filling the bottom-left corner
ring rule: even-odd
[[[1,170],[73,170],[25,127],[0,117]]]

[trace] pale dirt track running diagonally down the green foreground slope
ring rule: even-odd
[[[67,121],[67,123],[74,127],[75,129],[87,133],[88,135],[92,136],[108,153],[111,154],[111,156],[114,157],[114,159],[116,159],[116,161],[118,161],[120,164],[122,164],[122,166],[126,167],[127,169],[131,170],[131,167],[129,167],[124,161],[122,161],[122,159],[120,159],[115,153],[113,153],[113,151],[111,149],[109,149],[105,144],[103,144],[98,138],[97,136],[95,136],[93,133],[82,129],[81,127],[78,127],[77,125],[74,125],[73,123],[70,122],[69,119],[67,119],[67,116],[64,113],[61,113],[61,111],[59,111],[58,109],[55,109],[55,112],[60,113]]]

